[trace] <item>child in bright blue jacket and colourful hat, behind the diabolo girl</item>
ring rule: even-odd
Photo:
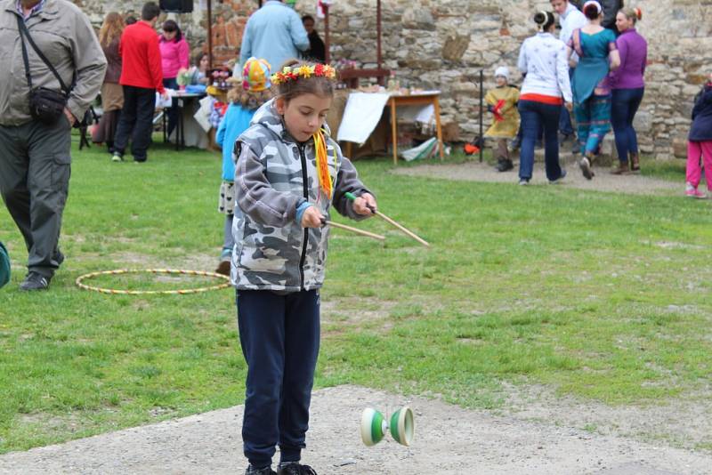
[[[225,215],[223,226],[223,251],[215,272],[230,275],[232,248],[232,216],[235,211],[235,165],[232,162],[232,149],[239,134],[249,126],[255,110],[271,98],[270,65],[265,60],[250,58],[242,70],[242,82],[230,93],[231,102],[215,134],[215,143],[223,149],[223,182],[220,185],[218,211]]]

